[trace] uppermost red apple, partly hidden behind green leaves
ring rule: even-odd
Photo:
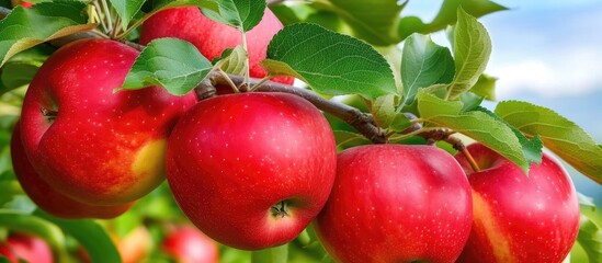
[[[247,47],[250,77],[263,78],[265,69],[260,61],[265,59],[268,44],[282,30],[279,19],[265,9],[261,22],[247,32]],[[177,37],[192,43],[203,56],[213,60],[227,48],[242,45],[240,31],[207,19],[198,8],[173,8],[160,11],[145,21],[140,32],[140,44],[161,37]],[[293,84],[293,77],[275,77],[273,81]],[[227,90],[227,89],[226,89]]]

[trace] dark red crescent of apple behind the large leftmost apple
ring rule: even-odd
[[[132,204],[92,206],[65,196],[48,185],[33,169],[21,142],[21,126],[12,132],[11,159],[16,179],[23,191],[43,210],[60,218],[113,218],[125,213]]]

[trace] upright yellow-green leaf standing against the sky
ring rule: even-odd
[[[457,10],[457,25],[454,35],[454,59],[456,71],[447,88],[446,98],[455,99],[473,88],[482,73],[491,55],[491,38],[481,23]]]

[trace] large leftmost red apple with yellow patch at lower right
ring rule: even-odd
[[[32,165],[81,203],[123,205],[159,185],[167,137],[196,102],[158,87],[114,92],[137,55],[109,39],[71,43],[44,62],[25,94],[22,140]]]

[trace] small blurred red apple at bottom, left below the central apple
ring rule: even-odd
[[[215,241],[192,226],[181,226],[168,233],[161,249],[180,263],[217,263]]]

